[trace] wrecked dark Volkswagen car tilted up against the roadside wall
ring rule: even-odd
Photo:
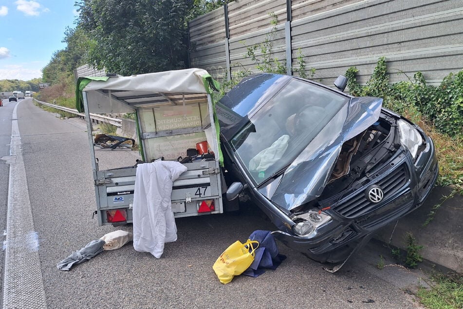
[[[433,141],[377,97],[276,74],[246,77],[216,105],[227,199],[245,191],[287,246],[338,270],[372,232],[420,207]]]

